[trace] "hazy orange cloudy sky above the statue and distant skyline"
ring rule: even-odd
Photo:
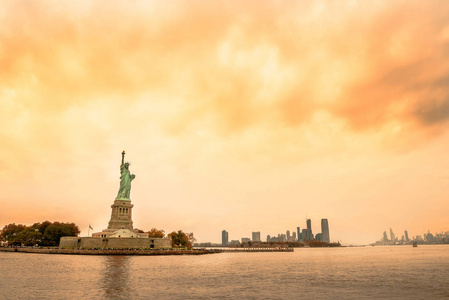
[[[449,2],[2,1],[0,226],[449,230]]]

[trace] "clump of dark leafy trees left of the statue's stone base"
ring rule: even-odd
[[[63,236],[78,236],[80,229],[75,223],[45,221],[31,226],[15,223],[6,225],[0,231],[0,240],[12,246],[55,247]]]

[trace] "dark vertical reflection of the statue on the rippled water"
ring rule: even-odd
[[[129,298],[131,287],[130,256],[105,256],[101,270],[101,286],[106,298]]]

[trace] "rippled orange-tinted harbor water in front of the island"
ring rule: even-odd
[[[144,257],[0,252],[0,299],[299,298],[449,298],[449,245]]]

